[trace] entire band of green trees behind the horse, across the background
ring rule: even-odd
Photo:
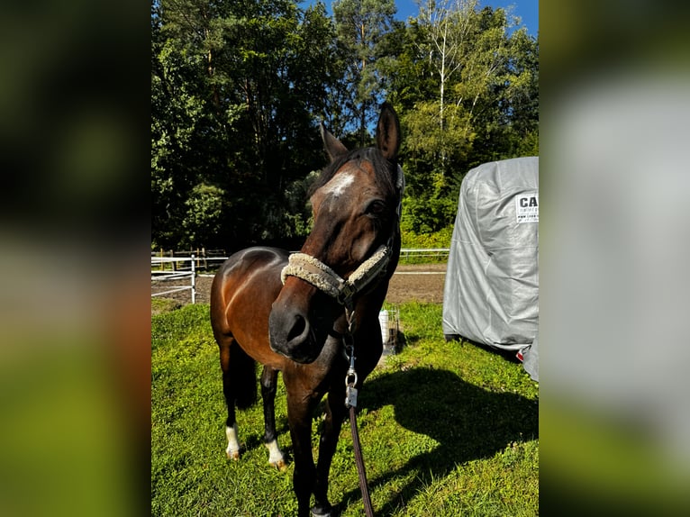
[[[392,0],[332,9],[151,4],[158,246],[231,251],[304,237],[304,182],[325,163],[317,122],[350,147],[370,145],[384,99],[401,118],[404,231],[449,227],[470,168],[539,154],[539,43],[504,9],[425,1],[404,23]]]

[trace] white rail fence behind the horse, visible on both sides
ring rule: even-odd
[[[403,248],[400,250],[401,259],[447,259],[448,248]],[[222,263],[227,257],[158,257],[151,255],[151,297],[171,295],[182,291],[189,291],[192,304],[196,303],[196,270],[203,263]]]

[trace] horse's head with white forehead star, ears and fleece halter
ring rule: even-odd
[[[321,133],[331,163],[310,191],[313,230],[283,269],[268,324],[271,349],[300,363],[313,362],[342,331],[343,307],[351,312],[393,274],[386,266],[400,249],[404,180],[393,108],[381,108],[376,147],[350,151],[323,125]]]

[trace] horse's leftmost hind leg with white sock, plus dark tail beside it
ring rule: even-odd
[[[240,441],[238,440],[235,407],[244,409],[256,401],[256,376],[254,360],[250,358],[237,342],[228,337],[219,343],[221,352],[222,393],[228,408],[225,421],[225,437],[228,446],[225,454],[229,459],[240,459]]]

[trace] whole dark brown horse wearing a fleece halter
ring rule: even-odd
[[[254,364],[259,361],[264,365],[260,385],[269,462],[285,466],[274,414],[277,374],[282,372],[300,516],[309,514],[312,494],[313,514],[331,512],[328,476],[347,414],[346,348],[354,343],[357,389],[381,357],[378,312],[400,252],[404,186],[397,165],[400,126],[388,104],[381,108],[376,147],[349,151],[321,129],[331,164],[312,187],[313,230],[301,252],[290,256],[264,247],[239,251],[222,265],[211,290],[211,323],[228,405],[226,452],[229,458],[240,456],[235,407],[254,402]],[[315,466],[312,414],[325,394]]]

